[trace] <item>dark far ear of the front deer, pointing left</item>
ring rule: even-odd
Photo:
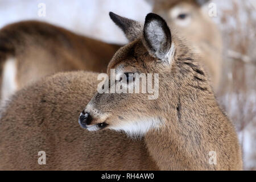
[[[124,18],[112,12],[109,12],[110,18],[115,24],[125,33],[126,38],[132,42],[133,40],[139,38],[142,34],[142,24],[128,18]]]

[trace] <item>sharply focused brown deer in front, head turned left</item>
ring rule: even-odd
[[[65,72],[16,92],[1,111],[0,169],[242,170],[236,130],[189,44],[157,14],[109,15],[129,40],[108,65],[114,82]],[[158,73],[159,96],[99,92],[134,88],[133,73]]]

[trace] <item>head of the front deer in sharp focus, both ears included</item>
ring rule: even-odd
[[[112,129],[141,136],[165,124],[170,107],[176,109],[179,86],[189,82],[191,71],[198,74],[198,78],[203,71],[188,63],[192,54],[171,35],[166,21],[159,15],[147,14],[144,26],[114,13],[110,13],[110,18],[130,43],[120,48],[110,61],[105,80],[109,88],[105,89],[111,90],[114,84],[115,88],[119,84],[122,89],[135,88],[138,84],[141,87],[138,93],[96,93],[80,114],[79,123],[90,131]],[[115,73],[114,81],[112,73]],[[135,73],[147,75],[146,81],[141,79],[138,83],[140,77],[134,77]],[[144,82],[148,84],[150,80],[149,74],[158,75],[152,81],[154,85],[159,83],[156,99],[148,99],[151,95],[148,92],[142,93]]]

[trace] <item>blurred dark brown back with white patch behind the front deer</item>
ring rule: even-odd
[[[105,72],[119,47],[48,23],[10,24],[0,30],[0,97],[56,72]]]

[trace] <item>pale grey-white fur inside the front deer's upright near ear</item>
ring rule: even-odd
[[[160,49],[165,37],[163,28],[156,20],[152,20],[147,26],[146,34],[151,46],[154,47],[157,52]]]

